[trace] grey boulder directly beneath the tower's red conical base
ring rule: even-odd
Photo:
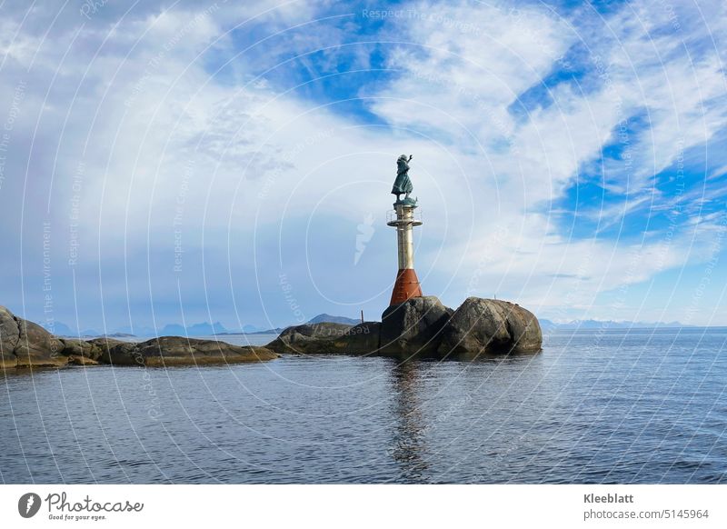
[[[380,352],[431,356],[437,353],[444,325],[453,314],[433,295],[413,297],[382,314]]]

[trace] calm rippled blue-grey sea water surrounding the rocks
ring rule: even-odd
[[[542,354],[476,362],[8,374],[0,480],[727,483],[726,342],[727,329],[561,331]]]

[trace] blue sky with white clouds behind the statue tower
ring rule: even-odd
[[[727,325],[721,0],[0,4],[0,304],[42,324],[380,318],[423,293]]]

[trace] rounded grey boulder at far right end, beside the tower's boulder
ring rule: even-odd
[[[467,298],[445,326],[438,354],[503,354],[540,351],[543,333],[537,318],[506,301]]]

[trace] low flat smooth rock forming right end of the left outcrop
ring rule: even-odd
[[[181,336],[163,336],[141,344],[104,339],[101,361],[115,365],[198,365],[239,364],[273,360],[278,355],[265,347],[240,346],[197,340]]]

